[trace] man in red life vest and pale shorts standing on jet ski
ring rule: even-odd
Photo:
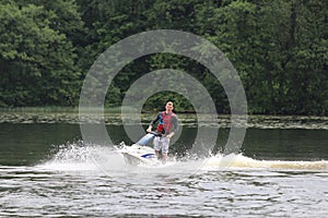
[[[147,129],[147,132],[151,132],[153,124],[160,121],[156,132],[162,133],[162,135],[155,136],[154,149],[157,157],[160,155],[160,150],[162,149],[163,162],[167,160],[169,140],[178,130],[178,119],[177,116],[173,112],[173,102],[167,101],[165,105],[165,111],[160,112]]]

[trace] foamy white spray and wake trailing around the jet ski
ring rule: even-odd
[[[257,160],[242,154],[208,158],[189,155],[183,159],[169,157],[165,165],[130,166],[117,146],[69,143],[54,148],[52,155],[37,169],[47,171],[99,173],[107,175],[137,173],[195,173],[202,170],[328,170],[328,161]]]

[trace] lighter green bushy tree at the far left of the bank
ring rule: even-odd
[[[2,106],[72,105],[79,73],[74,49],[50,27],[56,14],[44,7],[0,4]]]

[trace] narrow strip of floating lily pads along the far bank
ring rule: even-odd
[[[142,113],[142,124],[148,124],[156,112]],[[178,113],[180,124],[195,126],[202,122],[202,125],[218,125],[219,128],[230,128],[229,114],[219,114],[219,123],[213,123],[210,119],[199,117],[196,113]],[[204,118],[204,119],[203,119]],[[119,108],[105,109],[104,122],[106,124],[122,124],[121,111]],[[92,112],[87,122],[93,120]],[[78,108],[20,108],[11,110],[0,110],[0,123],[81,123]],[[328,130],[328,117],[313,116],[248,116],[247,128],[257,129],[308,129]]]

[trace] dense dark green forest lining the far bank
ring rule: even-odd
[[[78,106],[96,58],[152,29],[192,33],[220,48],[238,71],[249,113],[328,114],[328,1],[323,0],[1,0],[0,107]],[[169,53],[126,65],[106,106],[120,106],[133,81],[164,68],[190,73],[218,112],[229,112],[224,90],[208,70]],[[192,110],[175,93],[152,96],[145,109],[163,107],[166,99]]]

